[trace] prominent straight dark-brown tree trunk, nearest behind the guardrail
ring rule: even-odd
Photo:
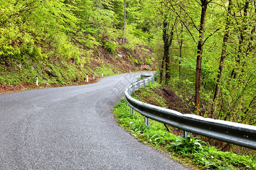
[[[204,28],[205,28],[205,16],[207,11],[207,0],[201,0],[201,20],[200,20],[200,29],[199,29],[199,41],[197,45],[197,57],[196,57],[196,84],[195,84],[195,109],[200,111],[200,91],[201,91],[201,63],[202,63],[202,54],[203,54],[203,45],[204,45]],[[200,114],[200,112],[199,112]],[[200,115],[201,116],[201,115]]]

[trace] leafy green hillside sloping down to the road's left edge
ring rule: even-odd
[[[122,29],[109,24],[118,14],[105,5],[93,1],[0,2],[1,87],[30,86],[36,75],[42,86],[54,86],[82,82],[86,74],[111,75],[138,71],[141,64],[152,66],[154,54],[148,42],[127,32],[122,43]]]

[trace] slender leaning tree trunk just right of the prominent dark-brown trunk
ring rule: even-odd
[[[231,11],[232,11],[232,0],[229,0],[229,7],[228,7],[228,14],[226,18],[226,28],[223,38],[223,44],[222,44],[222,51],[221,51],[221,59],[220,59],[220,66],[218,67],[218,77],[217,77],[217,84],[213,96],[213,102],[216,100],[218,95],[220,94],[220,84],[222,79],[222,71],[224,68],[224,61],[226,57],[226,45],[228,43],[228,37],[229,37],[229,26],[230,26],[230,17],[231,17]]]

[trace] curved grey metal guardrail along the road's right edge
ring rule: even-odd
[[[214,120],[195,114],[182,114],[171,109],[143,103],[131,97],[131,91],[139,90],[142,87],[141,84],[145,88],[146,83],[150,85],[150,82],[154,82],[154,76],[138,80],[125,89],[125,100],[131,107],[131,114],[133,114],[133,109],[141,113],[145,116],[147,126],[148,118],[151,118],[184,131],[256,150],[256,126]]]

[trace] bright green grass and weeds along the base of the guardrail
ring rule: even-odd
[[[140,101],[165,107],[163,97],[154,93],[159,84],[154,83],[146,89],[141,89],[138,95],[132,96]],[[138,92],[138,91],[137,91]],[[166,130],[166,127],[157,121],[150,120],[150,126],[144,124],[144,117],[138,112],[130,114],[130,107],[125,99],[119,100],[113,110],[118,124],[130,132],[139,142],[160,149],[171,155],[172,159],[187,165],[192,169],[256,169],[255,155],[237,155],[233,152],[222,152],[200,137],[178,137]]]

